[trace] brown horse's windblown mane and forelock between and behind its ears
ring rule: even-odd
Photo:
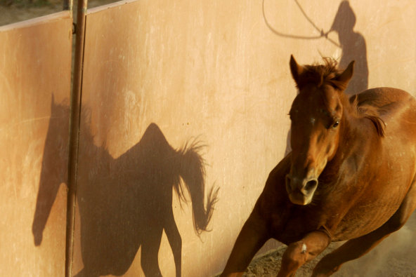
[[[377,130],[377,134],[380,137],[383,137],[386,125],[380,118],[377,109],[367,105],[365,107],[360,106],[357,97],[355,97],[353,101],[349,101],[348,97],[344,94],[344,90],[346,89],[345,83],[337,81],[337,77],[343,72],[343,70],[338,68],[337,60],[329,57],[324,57],[323,60],[323,64],[304,65],[304,71],[297,80],[297,87],[299,90],[304,86],[311,84],[318,88],[325,84],[336,88],[342,94],[341,98],[344,99],[342,102],[344,107],[346,107],[346,110],[358,118],[370,119]]]

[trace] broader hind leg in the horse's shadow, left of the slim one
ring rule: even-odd
[[[147,277],[162,276],[157,260],[162,231],[162,227],[149,228],[141,245],[141,268]]]

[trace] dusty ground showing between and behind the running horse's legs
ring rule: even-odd
[[[297,271],[297,277],[311,276],[313,267],[327,252],[342,243],[332,243],[317,259]],[[245,276],[276,276],[286,246],[254,259]],[[391,234],[364,257],[344,264],[336,277],[416,277],[416,214],[399,231]]]

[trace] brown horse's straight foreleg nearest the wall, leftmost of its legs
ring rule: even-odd
[[[252,215],[249,216],[242,227],[237,241],[235,241],[233,251],[221,277],[242,276],[256,252],[268,238],[270,236],[268,236],[266,222],[259,217],[254,209]]]

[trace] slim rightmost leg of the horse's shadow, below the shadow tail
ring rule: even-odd
[[[164,232],[166,233],[167,240],[171,245],[172,253],[174,254],[176,277],[181,277],[181,266],[182,266],[182,238],[179,234],[178,227],[176,227],[174,212],[170,210],[167,216]]]

